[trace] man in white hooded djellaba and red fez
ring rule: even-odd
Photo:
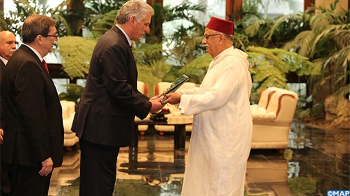
[[[252,140],[247,54],[232,46],[233,22],[211,17],[202,43],[211,61],[200,87],[168,94],[194,115],[182,196],[242,196]]]

